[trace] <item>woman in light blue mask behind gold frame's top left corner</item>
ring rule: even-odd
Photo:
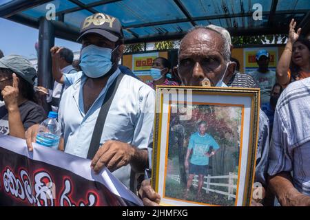
[[[158,57],[154,60],[152,68],[150,69],[150,74],[152,76],[152,82],[147,83],[153,89],[156,89],[156,85],[175,85],[178,83],[174,80],[169,80],[167,74],[169,74],[169,69],[171,68],[170,62],[163,57]]]

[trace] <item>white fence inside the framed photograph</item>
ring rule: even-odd
[[[180,176],[179,175],[170,175],[172,179],[177,181],[180,184]],[[228,179],[228,184],[219,184],[215,182],[211,182],[212,179]],[[236,195],[234,194],[234,189],[237,188],[237,185],[234,184],[234,179],[238,179],[238,176],[234,173],[230,173],[229,175],[224,176],[211,176],[207,175],[205,176],[205,181],[203,181],[203,190],[205,190],[206,193],[209,192],[216,192],[218,194],[227,195],[228,199],[231,200],[232,198],[236,199]],[[193,186],[198,187],[198,175],[194,176],[193,179]],[[223,186],[227,187],[227,191],[220,191],[210,188],[211,186]]]

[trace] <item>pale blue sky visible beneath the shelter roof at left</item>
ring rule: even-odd
[[[4,55],[19,54],[28,59],[37,58],[34,44],[39,39],[39,30],[0,18],[0,50]],[[68,47],[73,52],[81,49],[81,44],[63,39],[55,39],[55,45]]]

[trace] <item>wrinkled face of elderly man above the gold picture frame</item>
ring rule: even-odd
[[[178,54],[178,76],[183,85],[200,86],[207,78],[215,86],[227,67],[224,45],[220,34],[212,30],[201,28],[187,34]]]

